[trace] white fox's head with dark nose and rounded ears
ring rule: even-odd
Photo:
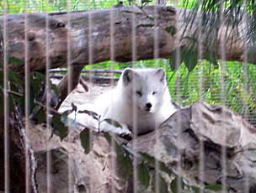
[[[163,97],[168,91],[166,74],[162,68],[126,68],[120,82],[123,100],[142,113],[156,112],[163,104]]]

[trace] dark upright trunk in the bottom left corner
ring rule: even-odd
[[[25,131],[24,120],[19,107],[15,107],[12,115],[8,117],[8,133],[5,133],[3,129],[3,119],[1,117],[0,120],[0,190],[37,193],[35,154]],[[7,141],[8,157],[5,157],[4,154],[4,141]],[[8,161],[7,163],[5,159]],[[8,167],[8,170],[5,170],[5,167]],[[4,174],[5,171],[8,172],[7,175]],[[5,177],[8,179],[5,179]],[[5,180],[8,182],[8,190],[5,189]]]

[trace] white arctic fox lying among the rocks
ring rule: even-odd
[[[176,111],[162,68],[126,68],[115,89],[97,101],[102,118],[115,120],[138,135],[158,128]]]

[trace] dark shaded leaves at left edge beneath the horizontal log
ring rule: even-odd
[[[24,65],[24,61],[16,58],[8,58],[8,65]],[[45,75],[40,72],[29,73],[27,77],[29,91],[25,93],[24,76],[14,70],[8,69],[7,71],[8,73],[5,74],[3,64],[0,63],[0,91],[2,92],[0,97],[0,114],[3,115],[3,97],[5,96],[7,98],[6,105],[9,114],[13,112],[15,105],[19,107],[23,116],[25,112],[28,112],[28,116],[37,123],[52,123],[52,127],[54,128],[53,132],[56,133],[61,140],[66,138],[68,127],[65,125],[65,122],[63,122],[63,119],[66,119],[67,122],[68,114],[72,111],[76,111],[76,107],[72,106],[72,110],[63,112],[63,114],[51,112],[51,107],[48,107],[47,111],[45,106]],[[4,76],[7,79],[6,84],[4,84]],[[56,86],[53,86],[51,82],[49,86],[50,90],[54,91],[57,96],[58,91]],[[4,89],[6,89],[5,95],[3,95]],[[27,101],[27,105],[25,105],[25,100]],[[49,113],[48,115],[47,112]],[[52,113],[53,116],[51,117],[50,114]],[[47,122],[47,119],[49,122]]]

